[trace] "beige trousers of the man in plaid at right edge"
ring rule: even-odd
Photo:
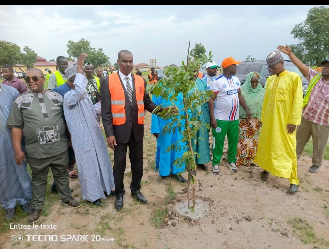
[[[296,132],[297,160],[302,156],[304,146],[310,140],[311,136],[313,139],[312,163],[320,167],[327,147],[329,126],[318,125],[302,117],[302,121],[300,122],[300,126],[297,127]]]

